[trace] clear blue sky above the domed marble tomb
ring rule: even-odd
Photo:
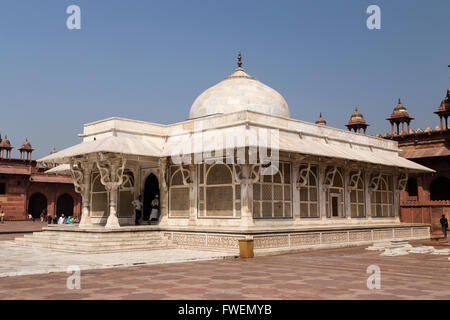
[[[81,30],[66,28],[81,7]],[[381,30],[366,8],[381,7]],[[355,106],[371,134],[400,97],[413,128],[434,128],[449,87],[450,1],[2,0],[0,133],[34,158],[78,143],[111,116],[174,123],[231,74],[278,90],[293,118],[345,128]],[[17,151],[14,151],[17,156]]]

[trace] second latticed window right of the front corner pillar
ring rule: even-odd
[[[300,171],[307,170],[307,165],[301,165]],[[305,186],[300,186],[300,217],[319,217],[319,192],[317,180],[317,167],[310,166]]]

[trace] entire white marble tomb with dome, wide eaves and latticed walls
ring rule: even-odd
[[[82,196],[80,232],[161,232],[175,244],[236,248],[347,245],[429,237],[399,220],[409,173],[397,142],[291,118],[276,90],[238,67],[200,94],[189,119],[170,125],[123,118],[85,124],[83,141],[38,161],[70,170]],[[350,128],[349,128],[350,129]],[[156,225],[134,226],[159,195]],[[64,230],[49,226],[47,230]]]

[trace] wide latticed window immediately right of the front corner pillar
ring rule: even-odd
[[[273,175],[261,175],[259,183],[253,185],[253,217],[291,218],[291,165],[279,164]]]

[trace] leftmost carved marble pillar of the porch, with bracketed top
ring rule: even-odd
[[[72,175],[75,192],[79,193],[82,199],[81,220],[79,227],[91,227],[90,200],[92,164],[87,160],[71,159],[70,172]]]

